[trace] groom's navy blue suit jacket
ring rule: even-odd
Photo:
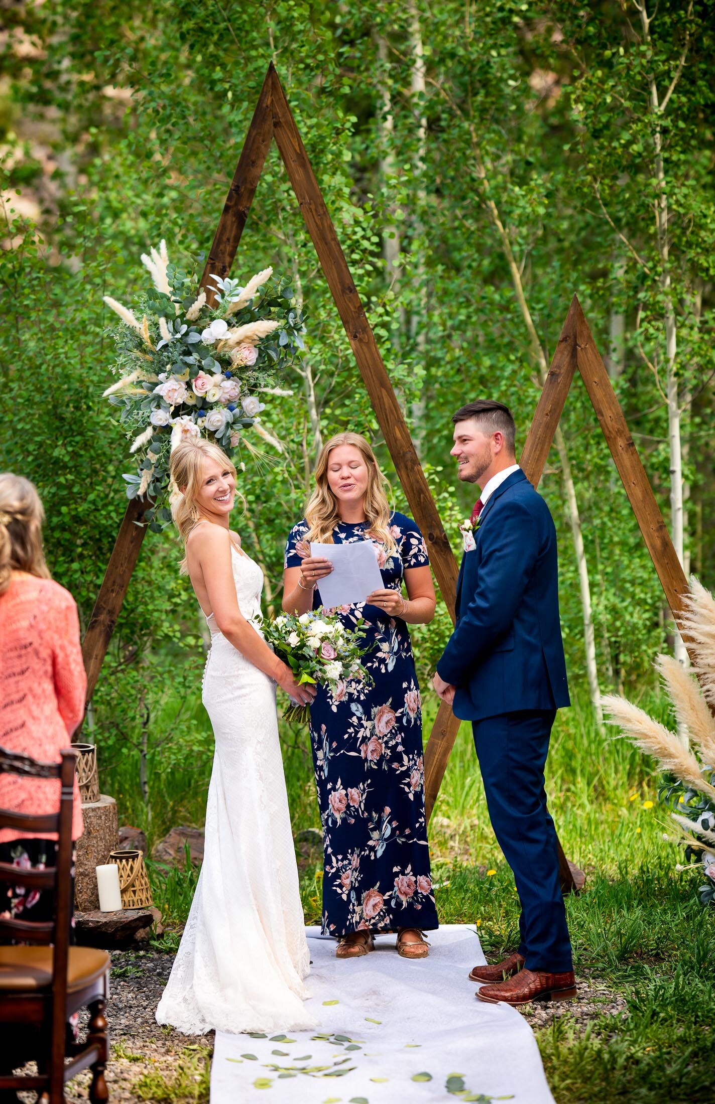
[[[523,471],[487,499],[462,556],[456,625],[437,665],[463,721],[570,704],[558,613],[556,529]]]

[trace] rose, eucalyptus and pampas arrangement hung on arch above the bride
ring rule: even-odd
[[[231,456],[254,431],[281,450],[261,425],[262,394],[291,395],[276,386],[281,373],[304,348],[303,315],[290,280],[273,269],[256,273],[245,286],[209,277],[214,305],[183,268],[169,262],[166,243],[141,255],[154,287],[137,297],[133,309],[112,296],[104,301],[122,319],[112,330],[119,379],[104,396],[119,408],[119,424],[134,438],[129,452],[136,473],[123,476],[127,498],[151,499],[149,528],[170,521],[162,505],[168,490],[169,455],[187,437],[214,440]]]

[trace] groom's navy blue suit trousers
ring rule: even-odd
[[[522,905],[519,953],[527,969],[572,969],[557,838],[546,807],[544,766],[555,710],[474,721],[474,745],[492,827]]]

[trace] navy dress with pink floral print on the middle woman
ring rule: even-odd
[[[336,544],[369,540],[366,522],[341,522]],[[301,565],[307,522],[293,527],[285,566]],[[416,523],[392,513],[397,551],[374,541],[382,585],[400,590],[403,573],[429,564]],[[315,592],[314,608],[320,606]],[[348,627],[365,618],[374,648],[362,662],[370,687],[318,686],[311,707],[311,743],[324,845],[323,934],[360,928],[438,927],[424,817],[420,688],[408,627],[377,606],[337,611]]]

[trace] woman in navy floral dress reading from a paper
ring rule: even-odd
[[[318,686],[311,742],[324,839],[323,932],[337,957],[374,948],[374,935],[397,932],[406,958],[423,958],[421,931],[438,927],[424,816],[420,689],[408,624],[434,616],[434,586],[414,521],[390,511],[385,478],[359,434],[324,446],[306,516],[285,549],[283,609],[318,608],[320,578],[333,570],[311,556],[311,541],[369,540],[383,586],[365,603],[340,606],[347,627],[365,619],[369,687]],[[407,597],[402,596],[402,583]]]

